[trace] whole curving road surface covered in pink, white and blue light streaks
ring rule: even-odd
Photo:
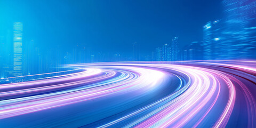
[[[255,66],[255,61],[68,65],[77,69],[2,84],[0,126],[255,127]]]

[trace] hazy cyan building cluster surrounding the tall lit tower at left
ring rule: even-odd
[[[0,35],[0,80],[61,71],[57,68],[64,63],[61,56],[51,48],[42,51],[33,39],[23,38],[23,23],[14,22],[13,29]]]

